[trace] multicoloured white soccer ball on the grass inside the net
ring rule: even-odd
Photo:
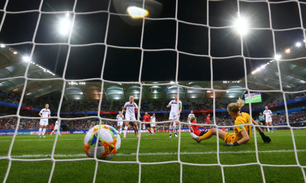
[[[99,131],[100,128],[100,131]],[[116,129],[110,125],[101,124],[91,128],[85,135],[83,141],[84,151],[88,157],[94,157],[97,137],[99,133],[99,141],[97,146],[98,159],[110,160],[115,157],[121,144],[120,135]]]

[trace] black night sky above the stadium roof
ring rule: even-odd
[[[162,9],[157,18],[175,18],[176,0],[157,0]],[[271,0],[270,0],[271,1]],[[276,0],[273,0],[276,1]],[[278,0],[279,1],[279,0]],[[77,0],[76,12],[107,10],[108,0]],[[304,1],[305,2],[305,1]],[[74,0],[44,0],[42,11],[72,11]],[[177,17],[181,21],[207,25],[205,0],[178,0]],[[3,9],[5,0],[0,1]],[[9,0],[6,11],[38,10],[40,0]],[[269,28],[268,3],[239,2],[241,16],[247,18],[250,27]],[[300,4],[303,25],[306,25],[306,4]],[[301,27],[298,3],[270,4],[273,29]],[[114,2],[110,11],[117,13]],[[36,43],[67,43],[68,36],[58,33],[58,21],[65,14],[42,14],[36,35]],[[2,19],[3,12],[0,12]],[[72,18],[72,16],[70,16]],[[104,43],[108,13],[76,15],[71,44]],[[237,18],[237,1],[209,1],[209,26],[232,26]],[[32,41],[38,12],[7,14],[0,31],[3,43]],[[122,16],[110,15],[107,44],[125,47],[140,47],[141,25],[130,25]],[[280,52],[303,40],[302,30],[275,31],[276,51]],[[175,49],[175,20],[146,20],[144,27],[144,49]],[[179,51],[208,55],[208,28],[203,26],[178,25]],[[33,45],[12,46],[30,55]],[[244,37],[244,56],[253,58],[274,57],[272,31],[250,30]],[[55,70],[62,76],[68,46],[36,46],[33,60],[44,67]],[[66,79],[100,78],[105,55],[104,45],[72,47],[67,66]],[[240,36],[231,28],[211,29],[212,57],[241,55]],[[207,81],[211,78],[210,59],[179,54],[179,81]],[[177,53],[175,51],[144,52],[142,81],[173,81],[176,74]],[[247,60],[247,71],[251,72],[266,61]],[[103,78],[111,81],[138,81],[141,50],[108,48]],[[233,71],[234,70],[234,71]],[[214,59],[214,80],[237,80],[244,77],[243,59]]]

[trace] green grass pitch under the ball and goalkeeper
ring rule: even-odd
[[[263,164],[297,164],[293,152],[293,141],[290,130],[275,130],[267,133],[272,142],[264,144],[257,133],[258,155]],[[122,134],[123,135],[123,134]],[[178,143],[176,137],[169,138],[169,133],[159,132],[154,135],[141,134],[139,160],[141,162],[162,162],[178,160]],[[217,138],[204,140],[197,144],[188,132],[182,132],[180,160],[186,163],[217,164]],[[306,166],[306,130],[294,130],[295,142],[299,162]],[[87,158],[83,151],[83,138],[85,134],[63,134],[58,137],[55,149],[55,159]],[[0,157],[6,156],[12,136],[0,136]],[[16,136],[11,152],[13,158],[37,159],[50,158],[55,135],[46,135],[39,138],[36,135]],[[256,160],[254,134],[246,145],[237,147],[224,147],[219,139],[221,164],[254,163]],[[121,136],[121,147],[112,161],[136,161],[138,138],[134,133]],[[39,154],[39,156],[38,156]],[[22,156],[28,155],[28,156]],[[32,156],[31,156],[32,155]],[[64,156],[66,155],[66,157]],[[64,156],[64,157],[63,157]],[[93,160],[56,162],[52,182],[92,182],[96,162]],[[3,181],[8,160],[0,160],[0,182]],[[7,182],[47,182],[52,162],[47,161],[12,161]],[[142,182],[179,182],[180,164],[148,164],[141,166]],[[98,163],[96,182],[138,182],[139,165]],[[266,182],[304,182],[299,167],[264,167]],[[262,182],[259,165],[224,168],[226,182]],[[222,182],[220,166],[193,166],[183,165],[183,182],[194,180],[210,180]],[[128,181],[127,181],[128,180]]]

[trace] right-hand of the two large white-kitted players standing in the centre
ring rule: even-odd
[[[170,111],[170,115],[169,115],[169,121],[174,121],[174,120],[179,120],[180,118],[180,114],[182,112],[182,102],[178,101],[178,95],[174,94],[174,100],[171,100],[169,102],[169,104],[167,105],[167,108],[169,108],[171,106],[171,111]],[[170,131],[170,135],[169,137],[171,138],[172,136],[172,129],[174,129],[175,132],[175,136],[178,137],[177,135],[177,128],[178,127],[178,122],[176,122],[173,124],[173,122],[170,122],[170,126],[169,126],[169,131]]]

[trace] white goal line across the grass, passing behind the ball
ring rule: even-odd
[[[273,153],[273,152],[294,152],[294,150],[276,150],[276,151],[259,151],[258,153]],[[306,150],[297,150],[297,152],[306,152]],[[180,154],[216,154],[215,151],[210,152],[181,152]],[[229,153],[255,153],[255,151],[225,151],[219,152],[221,154],[229,154]],[[177,152],[155,152],[155,153],[139,153],[139,155],[176,155]],[[124,154],[117,153],[117,156],[131,156],[136,155],[136,153]],[[24,154],[24,155],[12,155],[12,158],[26,158],[26,157],[50,157],[51,154]],[[0,156],[0,158],[7,156]],[[54,154],[54,157],[87,157],[85,153],[78,154]]]

